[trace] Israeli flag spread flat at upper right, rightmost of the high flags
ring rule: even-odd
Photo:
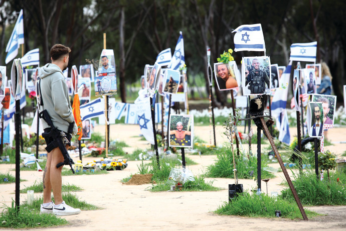
[[[293,43],[289,60],[316,62],[317,42]]]

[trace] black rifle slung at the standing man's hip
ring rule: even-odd
[[[74,164],[74,162],[72,158],[70,157],[69,153],[67,152],[65,143],[64,143],[64,141],[68,142],[65,133],[63,131],[59,131],[56,127],[54,127],[51,117],[49,116],[47,110],[41,111],[39,113],[39,117],[45,120],[45,122],[52,128],[49,133],[42,133],[43,138],[46,138],[46,137],[53,138],[53,142],[47,145],[46,147],[47,152],[51,152],[54,148],[59,147],[61,153],[63,154],[64,162],[57,164],[57,168],[63,165],[70,165],[71,170],[74,174],[75,170],[72,167],[72,164]],[[73,123],[70,123],[69,132],[72,131],[72,129],[73,129]]]

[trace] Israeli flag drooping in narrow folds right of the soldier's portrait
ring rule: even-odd
[[[285,72],[281,75],[281,86],[275,89],[275,94],[271,103],[271,114],[277,117],[286,109],[289,78],[291,75],[292,60],[287,65]]]

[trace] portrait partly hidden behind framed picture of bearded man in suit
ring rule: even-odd
[[[336,107],[336,95],[313,94],[311,101],[321,102],[323,107],[324,128],[334,127],[334,113]]]

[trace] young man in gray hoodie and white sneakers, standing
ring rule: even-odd
[[[68,90],[66,86],[63,70],[69,62],[71,49],[61,44],[56,44],[51,48],[52,63],[47,63],[40,68],[40,97],[43,100],[41,111],[46,109],[53,125],[66,134],[68,143],[71,145],[71,134],[68,133],[69,126],[73,123],[73,134],[77,133],[77,125],[74,122],[73,112],[70,105]],[[50,126],[42,120],[45,132],[51,130]],[[53,140],[45,139],[49,145]],[[61,195],[61,170],[63,166],[57,168],[56,165],[64,161],[64,157],[59,147],[54,148],[47,154],[47,164],[43,172],[43,204],[41,213],[54,213],[56,215],[73,215],[81,212],[79,208],[73,208],[63,201]],[[53,190],[54,201],[52,202],[51,192]]]

